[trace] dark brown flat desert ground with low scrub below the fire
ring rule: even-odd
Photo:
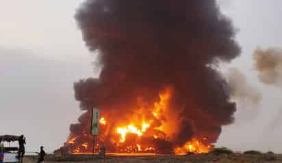
[[[37,156],[27,156],[24,163],[36,162]],[[282,162],[282,154],[274,153],[200,153],[191,155],[107,155],[105,159],[98,159],[95,155],[76,155],[67,160],[55,158],[54,155],[47,155],[44,163],[263,163]]]

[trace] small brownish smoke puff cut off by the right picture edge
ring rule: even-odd
[[[257,48],[253,52],[255,70],[259,80],[266,85],[282,87],[282,50],[281,48]]]

